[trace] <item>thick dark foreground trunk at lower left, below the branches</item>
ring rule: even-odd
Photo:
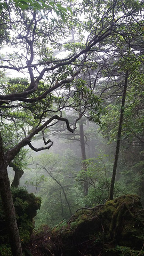
[[[7,225],[9,242],[11,245],[13,256],[22,256],[21,242],[19,237],[19,230],[15,209],[13,205],[13,198],[11,193],[10,181],[7,174],[8,163],[4,159],[2,138],[0,134],[0,193],[5,212],[5,221]]]

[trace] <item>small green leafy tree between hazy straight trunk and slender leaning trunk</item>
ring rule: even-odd
[[[98,157],[86,159],[87,183],[89,185],[89,193],[85,197],[88,207],[97,204],[103,204],[109,197],[110,177],[112,161],[108,155],[99,154]],[[76,184],[79,186],[85,179],[85,172],[82,170],[77,174]],[[117,186],[116,196],[119,192]]]

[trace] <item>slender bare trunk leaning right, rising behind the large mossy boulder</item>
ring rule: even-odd
[[[121,115],[119,117],[119,126],[118,126],[117,143],[116,143],[116,153],[115,153],[115,161],[114,161],[114,166],[113,166],[113,175],[112,175],[112,178],[111,178],[109,200],[113,200],[113,197],[114,197],[114,186],[115,186],[117,162],[118,162],[119,148],[120,148],[121,134],[122,134],[124,106],[125,106],[126,89],[127,89],[127,78],[128,78],[128,70],[125,73],[125,82],[124,82],[124,90],[123,90],[122,105],[121,105]]]

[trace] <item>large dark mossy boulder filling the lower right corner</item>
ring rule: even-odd
[[[52,230],[51,239],[57,244],[55,256],[143,255],[140,197],[124,195],[93,209],[79,209],[67,223]]]

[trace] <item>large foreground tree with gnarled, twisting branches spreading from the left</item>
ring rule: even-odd
[[[135,19],[139,20],[142,7],[140,2],[132,1],[132,6],[129,3],[118,0],[113,4],[104,1],[93,3],[92,6],[91,3],[85,2],[79,6],[73,2],[70,6],[67,1],[1,3],[2,47],[5,42],[9,42],[8,45],[13,46],[13,52],[1,54],[0,68],[5,72],[12,71],[28,76],[27,82],[17,83],[17,86],[15,83],[2,83],[0,95],[2,124],[13,123],[16,131],[18,126],[24,131],[23,139],[18,135],[15,145],[7,150],[3,148],[2,136],[0,137],[0,190],[14,256],[21,256],[22,250],[7,166],[26,145],[35,151],[50,149],[53,142],[51,139],[46,141],[44,135],[45,147],[35,148],[31,139],[49,125],[54,125],[54,122],[62,121],[68,131],[75,131],[76,123],[87,106],[84,106],[82,113],[79,113],[77,108],[78,116],[73,128],[70,127],[68,119],[62,116],[61,110],[67,106],[71,88],[73,95],[77,92],[76,78],[93,62],[89,61],[90,53],[97,52],[97,47],[100,49],[102,44],[109,44],[111,37],[119,35],[119,28],[125,30],[124,37],[129,37],[132,23]],[[63,7],[62,4],[68,7]],[[80,13],[85,17],[83,22],[78,16]],[[62,46],[68,41],[69,31],[74,27],[77,35],[81,33],[79,41],[83,38],[83,44],[71,44],[66,57],[62,59],[55,56],[54,49],[63,50]],[[4,34],[3,29],[6,31]],[[87,39],[82,31],[89,33]],[[123,34],[121,36],[123,37]],[[63,38],[66,38],[65,42]],[[57,97],[59,92],[60,97]],[[15,122],[17,119],[20,121],[18,126]]]

